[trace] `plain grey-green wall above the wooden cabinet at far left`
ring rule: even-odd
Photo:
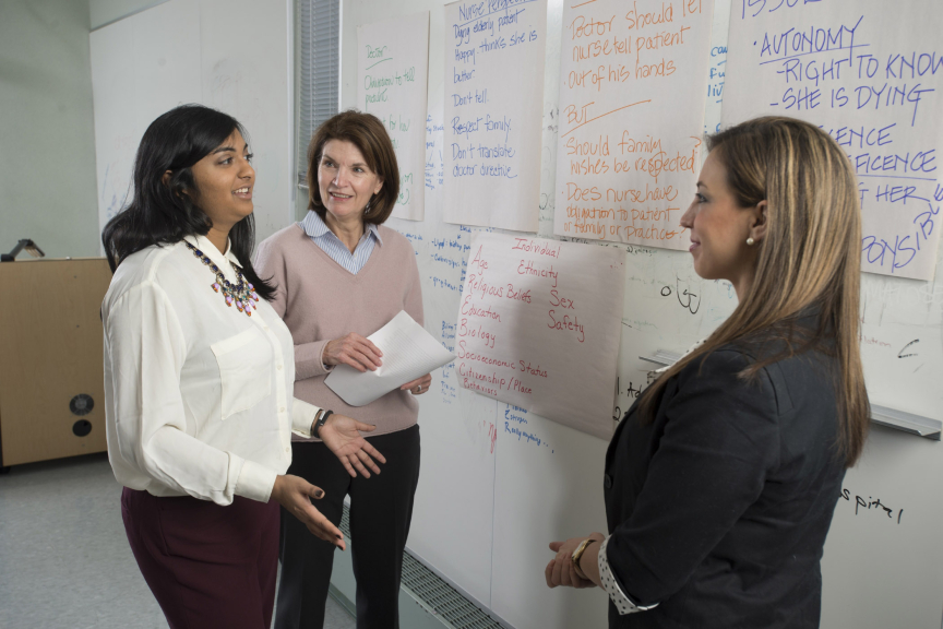
[[[0,251],[98,254],[88,3],[0,2]]]

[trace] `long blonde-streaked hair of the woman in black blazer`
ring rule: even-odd
[[[837,447],[850,467],[861,455],[870,418],[858,331],[861,212],[851,164],[827,133],[784,117],[749,120],[709,137],[707,147],[727,169],[738,205],[767,202],[766,235],[737,309],[645,391],[641,417],[654,419],[666,383],[689,364],[729,343],[775,337],[786,349],[752,364],[741,378],[812,348],[835,355]],[[810,311],[819,327],[803,334],[795,323]]]

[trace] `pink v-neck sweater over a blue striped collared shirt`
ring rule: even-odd
[[[367,406],[349,406],[324,384],[329,341],[350,332],[369,336],[399,310],[422,324],[422,293],[413,245],[380,226],[379,242],[356,275],[334,262],[298,224],[263,240],[255,271],[277,285],[272,307],[295,340],[295,396],[341,415],[374,424],[370,436],[409,428],[419,404],[408,391],[391,391]],[[295,441],[310,441],[293,435]]]

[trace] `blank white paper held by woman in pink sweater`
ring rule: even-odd
[[[324,379],[324,384],[351,406],[379,400],[455,359],[405,310],[368,339],[383,353],[383,364],[375,371],[360,372],[349,365],[338,365]]]

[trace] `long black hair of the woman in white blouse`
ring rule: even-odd
[[[146,247],[174,245],[184,236],[210,232],[210,217],[198,204],[199,194],[192,194],[199,189],[191,168],[234,131],[246,138],[238,120],[202,105],[175,107],[147,127],[134,158],[134,195],[102,232],[112,273],[128,256]],[[255,245],[252,214],[232,226],[229,244],[242,274],[261,297],[271,300],[275,287],[259,277],[250,259]]]

